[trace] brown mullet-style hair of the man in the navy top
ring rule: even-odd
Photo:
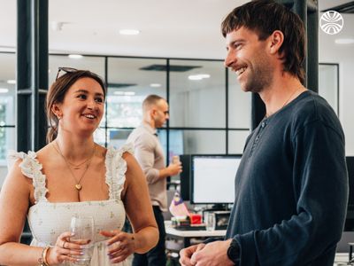
[[[221,23],[224,37],[240,27],[255,31],[259,40],[280,30],[284,35],[279,53],[283,70],[295,75],[304,84],[305,34],[304,23],[289,8],[270,0],[257,0],[236,7]]]

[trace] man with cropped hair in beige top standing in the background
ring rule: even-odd
[[[163,148],[157,129],[169,119],[168,104],[158,95],[150,95],[142,102],[142,124],[127,138],[135,147],[135,158],[146,176],[150,200],[158,223],[158,245],[146,254],[135,254],[133,266],[165,266],[165,224],[162,212],[167,211],[166,177],[181,172],[181,162],[165,167]]]

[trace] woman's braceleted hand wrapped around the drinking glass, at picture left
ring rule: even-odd
[[[76,259],[72,255],[82,254],[81,245],[88,244],[88,241],[85,243],[73,243],[70,242],[70,237],[73,237],[72,232],[65,231],[58,236],[56,245],[50,247],[47,253],[47,262],[50,265],[57,265],[63,262],[76,262]]]

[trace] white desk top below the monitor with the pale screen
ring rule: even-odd
[[[227,233],[226,230],[213,230],[213,231],[182,231],[172,227],[171,221],[165,221],[165,232],[167,236],[173,239],[183,239],[184,247],[190,246],[190,239],[192,238],[217,238],[224,237]]]

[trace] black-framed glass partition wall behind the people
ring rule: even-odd
[[[0,52],[0,162],[16,149],[16,55]],[[6,66],[6,67],[4,67]],[[222,60],[83,56],[52,54],[49,82],[59,66],[89,69],[107,82],[104,119],[96,130],[101,145],[123,145],[142,121],[142,100],[149,94],[166,98],[170,121],[159,129],[166,162],[175,154],[242,153],[250,133],[250,94]],[[338,65],[320,64],[319,94],[338,113]],[[327,84],[331,84],[327,86]]]

